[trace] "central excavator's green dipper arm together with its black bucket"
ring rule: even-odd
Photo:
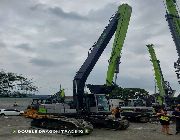
[[[123,21],[119,21],[117,25],[117,30],[115,33],[115,38],[113,42],[113,47],[111,51],[110,59],[108,60],[108,70],[106,76],[106,84],[105,85],[90,85],[88,84],[87,87],[90,89],[91,93],[103,93],[109,95],[112,90],[117,86],[117,74],[119,73],[119,64],[121,58],[121,51],[123,48],[124,40],[126,37],[126,33],[128,30],[128,25],[130,21],[130,16],[122,15]]]

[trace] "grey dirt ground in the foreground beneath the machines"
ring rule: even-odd
[[[31,119],[23,116],[0,117],[0,140],[179,140],[174,135],[175,125],[171,124],[173,135],[162,134],[160,124],[131,123],[127,130],[114,131],[94,129],[90,135],[65,136],[62,134],[19,134],[18,130],[30,129]],[[15,132],[15,133],[13,133]]]

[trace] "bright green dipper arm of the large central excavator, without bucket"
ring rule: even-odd
[[[132,8],[127,4],[123,4],[119,6],[118,13],[120,14],[120,18],[118,19],[118,26],[115,33],[111,57],[109,59],[109,66],[106,77],[107,86],[110,86],[113,83],[115,70],[117,67],[117,63],[119,64],[121,50],[128,30]]]

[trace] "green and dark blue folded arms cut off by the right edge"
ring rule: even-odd
[[[180,79],[180,16],[178,12],[178,5],[176,0],[165,0],[166,5],[166,19],[176,45],[176,50],[178,53],[178,60],[174,63],[174,68],[176,69],[177,78]],[[178,81],[180,84],[180,81]]]

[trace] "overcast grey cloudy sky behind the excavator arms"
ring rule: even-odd
[[[32,78],[37,94],[54,94],[59,85],[72,95],[72,81],[118,6],[132,15],[117,84],[154,93],[154,71],[147,44],[154,44],[165,80],[176,95],[176,47],[165,19],[163,0],[0,0],[0,69]],[[180,1],[177,0],[180,6]],[[114,37],[87,84],[105,84]]]

